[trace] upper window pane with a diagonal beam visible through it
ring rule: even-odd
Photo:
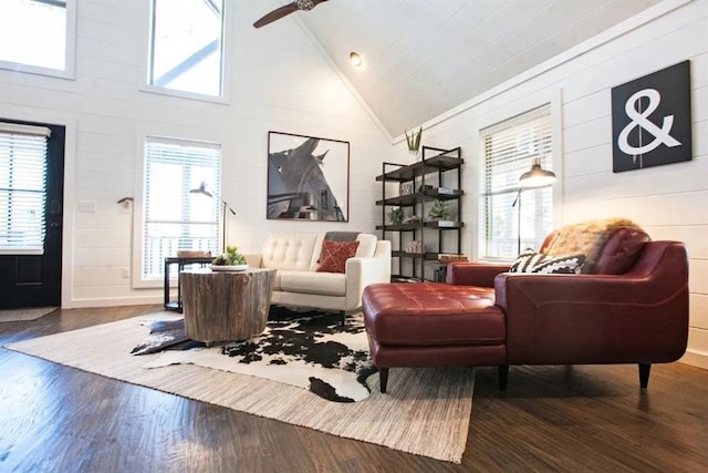
[[[222,95],[223,0],[153,0],[148,84]]]

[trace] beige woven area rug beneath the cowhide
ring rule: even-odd
[[[168,317],[167,312],[143,316],[6,348],[333,435],[461,462],[472,409],[470,369],[394,369],[386,394],[379,392],[378,376],[373,376],[372,394],[354,403],[332,402],[290,384],[195,364],[145,369],[159,353],[136,357],[131,350],[148,335],[145,321]]]

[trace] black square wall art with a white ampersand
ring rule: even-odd
[[[691,158],[690,61],[612,89],[612,171]]]

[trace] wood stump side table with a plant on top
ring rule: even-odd
[[[211,343],[246,340],[268,322],[275,269],[181,273],[185,330],[192,340]]]

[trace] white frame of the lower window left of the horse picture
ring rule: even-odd
[[[215,141],[206,141],[206,140],[195,140],[195,138],[178,138],[178,137],[168,137],[158,134],[143,134],[140,136],[142,148],[143,148],[143,158],[139,161],[139,168],[136,173],[136,198],[134,203],[134,232],[133,232],[133,287],[135,288],[157,288],[164,286],[164,275],[160,273],[159,276],[155,277],[144,277],[144,260],[143,254],[145,250],[144,241],[145,241],[145,205],[146,205],[146,184],[145,177],[147,172],[147,148],[148,143],[150,141],[167,143],[167,144],[181,144],[188,146],[197,146],[205,148],[219,148],[221,156],[219,158],[219,163],[215,167],[215,182],[207,183],[209,185],[209,191],[214,194],[211,202],[209,203],[209,207],[211,207],[211,219],[206,219],[204,222],[199,222],[200,224],[210,225],[214,227],[214,249],[212,254],[218,251],[218,248],[221,246],[220,240],[220,228],[221,228],[221,218],[222,215],[220,213],[220,204],[219,199],[220,195],[220,182],[221,182],[221,166],[223,160],[223,147],[220,143]],[[197,185],[195,185],[196,187]],[[185,189],[185,192],[188,192]],[[206,196],[186,196],[186,198],[206,198]],[[177,256],[174,255],[165,255],[165,256]],[[175,267],[170,268],[175,269]],[[176,273],[170,273],[170,280],[173,282],[176,281]]]

